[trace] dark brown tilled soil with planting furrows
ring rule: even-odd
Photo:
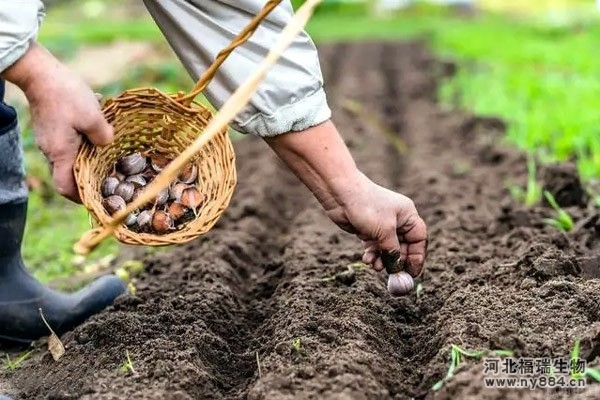
[[[547,205],[514,201],[508,185],[525,184],[526,158],[502,145],[501,120],[440,108],[437,85],[454,67],[422,43],[332,44],[321,57],[359,167],[412,198],[428,224],[418,296],[392,298],[384,274],[348,267],[360,242],[248,137],[235,144],[239,185],[216,227],[148,255],[135,295],[63,335],[59,362],[36,352],[0,389],[54,400],[600,398],[591,383],[487,389],[483,361],[469,358],[432,390],[453,344],[568,357],[581,339],[598,365],[600,215],[569,167],[542,175],[569,202],[571,233],[543,222]],[[126,352],[135,372],[119,370]]]

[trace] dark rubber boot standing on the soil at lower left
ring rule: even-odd
[[[1,179],[1,177],[0,177]],[[21,259],[27,202],[0,205],[0,341],[30,343],[50,331],[67,332],[111,305],[127,290],[114,275],[104,276],[73,294],[47,288],[30,275]],[[57,238],[60,240],[60,238]]]

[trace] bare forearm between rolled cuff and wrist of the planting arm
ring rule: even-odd
[[[343,205],[362,173],[331,121],[265,141],[328,210]]]

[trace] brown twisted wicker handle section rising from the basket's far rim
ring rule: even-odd
[[[217,58],[215,58],[215,61],[211,64],[211,66],[208,67],[206,71],[204,71],[200,78],[198,78],[198,82],[190,91],[190,93],[178,97],[177,100],[182,102],[186,106],[190,106],[194,98],[198,96],[206,88],[210,81],[215,77],[217,70],[219,69],[221,64],[225,62],[225,60],[227,59],[227,57],[229,57],[233,50],[235,50],[239,45],[250,39],[250,37],[256,31],[262,20],[265,19],[266,16],[269,15],[269,13],[279,5],[279,3],[281,3],[281,0],[267,1],[262,10],[250,20],[248,25],[246,25],[246,27],[240,33],[238,33],[238,35],[235,38],[233,38],[231,43],[229,43],[229,45],[226,48],[219,52]]]

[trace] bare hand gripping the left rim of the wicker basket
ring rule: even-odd
[[[27,97],[36,143],[50,163],[56,190],[80,202],[73,176],[80,134],[99,146],[113,140],[113,128],[104,119],[94,92],[35,43],[2,77]]]

